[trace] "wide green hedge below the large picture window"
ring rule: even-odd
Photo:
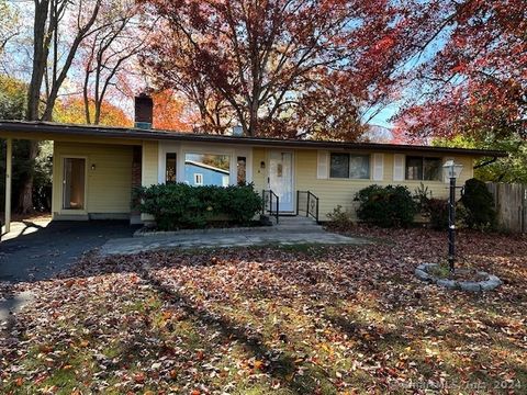
[[[141,213],[153,215],[161,230],[203,228],[215,218],[246,225],[261,210],[261,198],[251,184],[159,184],[137,188],[135,199]]]

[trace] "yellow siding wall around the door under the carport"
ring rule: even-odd
[[[131,212],[132,146],[55,142],[52,204],[54,217],[64,214],[61,210],[63,158],[68,156],[86,158],[86,210],[79,214],[86,216]],[[94,166],[93,170],[92,166]],[[68,212],[68,215],[75,216],[76,213]]]

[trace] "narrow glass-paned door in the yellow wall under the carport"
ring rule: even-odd
[[[63,169],[63,210],[86,210],[86,159],[64,158]]]

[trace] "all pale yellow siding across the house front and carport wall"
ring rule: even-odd
[[[142,171],[141,184],[149,187],[159,182],[159,144],[158,142],[142,142]],[[253,147],[251,166],[253,182],[255,190],[261,193],[268,189],[269,176],[269,153],[272,149],[281,148]],[[373,180],[373,160],[370,165],[369,180],[351,179],[321,179],[317,178],[317,149],[287,149],[293,153],[293,193],[295,191],[311,191],[319,199],[319,219],[327,221],[327,214],[335,207],[341,205],[355,216],[357,203],[354,202],[355,194],[373,183],[403,184],[414,192],[419,188],[422,181],[394,181],[394,158],[395,155],[415,155],[412,150],[396,153],[384,153],[382,180]],[[330,153],[327,150],[327,153]],[[362,151],[366,153],[366,151]],[[373,158],[375,151],[368,151]],[[131,145],[111,145],[92,143],[72,143],[56,142],[54,156],[54,176],[53,176],[53,212],[54,216],[60,214],[61,207],[61,174],[64,156],[79,156],[87,158],[87,214],[90,213],[123,213],[131,212],[132,193],[132,163],[133,146]],[[418,154],[417,154],[418,155]],[[438,157],[438,155],[430,155]],[[458,184],[464,183],[467,179],[473,177],[473,158],[471,156],[439,156],[442,160],[452,158],[463,165],[463,171]],[[265,168],[261,168],[261,162]],[[91,165],[96,165],[96,170],[91,170]],[[319,174],[318,174],[319,176]],[[442,181],[423,181],[433,193],[434,198],[448,198],[447,184]],[[86,214],[86,213],[85,213]],[[144,222],[150,222],[152,216],[142,215]]]

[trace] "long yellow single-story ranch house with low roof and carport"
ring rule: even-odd
[[[54,219],[139,222],[131,211],[132,189],[136,185],[251,182],[257,191],[272,190],[283,214],[295,214],[298,204],[304,204],[299,202],[298,191],[312,192],[318,198],[319,219],[325,221],[337,205],[354,208],[356,192],[373,183],[403,184],[414,191],[423,182],[435,198],[447,198],[441,173],[446,160],[463,165],[459,180],[462,184],[473,177],[474,159],[505,156],[480,149],[10,121],[0,121],[0,138],[8,138],[8,145],[15,138],[54,142]]]

